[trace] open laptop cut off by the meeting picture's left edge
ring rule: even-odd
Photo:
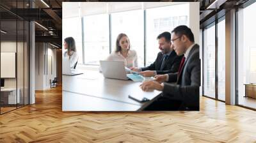
[[[70,63],[68,57],[62,58],[62,75],[81,75],[83,73],[77,72],[76,69],[70,68]]]

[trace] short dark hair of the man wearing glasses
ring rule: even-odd
[[[177,36],[184,34],[190,41],[195,42],[194,34],[188,26],[177,26],[173,29],[172,33],[177,34]]]

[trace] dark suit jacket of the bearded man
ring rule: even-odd
[[[175,73],[179,70],[180,61],[183,56],[177,56],[176,52],[173,50],[166,59],[166,62],[164,63],[164,68],[161,71],[161,65],[163,61],[163,54],[162,52],[159,52],[156,57],[156,61],[154,63],[150,64],[150,66],[147,66],[145,68],[141,68],[142,71],[145,70],[156,70],[157,75],[163,75],[166,73]]]

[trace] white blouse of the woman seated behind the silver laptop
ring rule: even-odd
[[[138,56],[135,50],[128,50],[127,57],[124,57],[121,52],[112,52],[107,61],[124,61],[127,68],[138,67]]]

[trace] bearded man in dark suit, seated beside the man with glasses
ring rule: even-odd
[[[171,47],[171,33],[161,33],[157,36],[157,39],[161,52],[157,54],[156,61],[150,64],[150,66],[144,68],[132,67],[131,70],[140,72],[144,77],[154,77],[155,75],[178,72],[182,56],[177,56]]]

